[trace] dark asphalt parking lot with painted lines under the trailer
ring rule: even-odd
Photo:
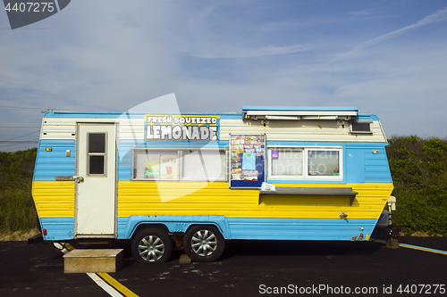
[[[447,295],[447,252],[439,252],[447,251],[447,238],[400,242],[410,245],[233,241],[220,260],[190,264],[179,263],[181,251],[157,265],[139,264],[125,251],[123,267],[106,275],[116,293],[127,290],[117,296]],[[63,254],[52,244],[0,243],[0,295],[28,294],[113,295],[87,274],[64,274]]]

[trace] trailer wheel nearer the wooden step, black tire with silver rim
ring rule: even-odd
[[[173,252],[173,241],[163,230],[146,228],[132,239],[133,258],[139,263],[164,263]]]

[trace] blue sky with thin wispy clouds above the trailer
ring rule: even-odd
[[[355,105],[388,137],[444,138],[447,2],[76,0],[14,30],[0,12],[0,141],[37,140],[41,110],[171,93],[181,112]]]

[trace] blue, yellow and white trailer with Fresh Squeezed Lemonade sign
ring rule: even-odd
[[[356,107],[48,111],[32,194],[44,241],[131,240],[139,262],[174,237],[195,261],[235,239],[367,241],[392,193],[386,144]]]

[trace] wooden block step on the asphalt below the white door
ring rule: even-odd
[[[79,249],[63,256],[65,273],[116,272],[122,267],[122,249]]]

